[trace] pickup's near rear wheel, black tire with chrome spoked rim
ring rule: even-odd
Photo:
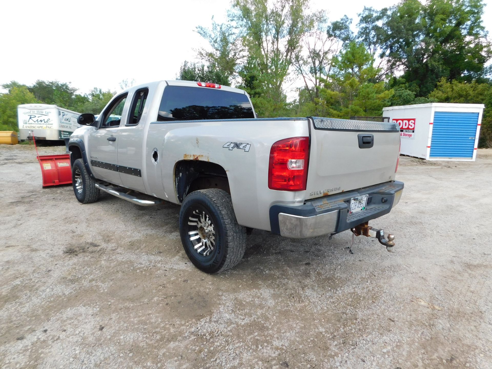
[[[186,255],[205,273],[230,269],[245,254],[246,228],[236,220],[231,195],[221,189],[201,189],[186,196],[180,234]]]

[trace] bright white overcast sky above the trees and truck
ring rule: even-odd
[[[311,0],[330,20],[344,14],[357,23],[364,5],[390,6],[396,0]],[[487,0],[486,2],[492,2]],[[93,87],[120,90],[135,84],[175,79],[193,49],[206,46],[198,25],[226,21],[230,0],[182,1],[4,1],[0,13],[0,84],[31,85],[37,79],[71,82],[80,93]],[[492,5],[484,25],[492,31]]]

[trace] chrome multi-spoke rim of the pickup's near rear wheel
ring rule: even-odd
[[[188,217],[189,240],[198,254],[207,256],[215,248],[214,224],[210,216],[204,211],[200,213],[198,210],[194,210],[193,215],[195,216]]]

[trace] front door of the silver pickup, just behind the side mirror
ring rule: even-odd
[[[115,97],[99,116],[98,129],[89,133],[89,162],[92,173],[96,178],[112,184],[122,183],[118,172],[117,147],[127,96],[128,92],[125,92]]]

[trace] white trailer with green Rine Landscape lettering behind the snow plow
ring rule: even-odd
[[[80,113],[48,104],[23,104],[17,107],[19,139],[63,140],[80,127]]]

